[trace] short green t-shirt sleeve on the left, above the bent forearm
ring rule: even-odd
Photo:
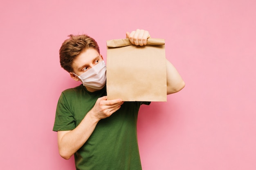
[[[56,108],[53,131],[73,130],[74,128],[76,128],[74,114],[72,113],[65,94],[61,93]]]

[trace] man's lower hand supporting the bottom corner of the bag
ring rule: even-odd
[[[124,102],[120,98],[107,100],[107,96],[100,97],[97,99],[94,107],[92,108],[91,114],[98,120],[105,119],[119,110],[123,103]]]

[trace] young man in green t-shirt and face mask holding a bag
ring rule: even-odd
[[[135,45],[146,45],[148,31],[126,32]],[[141,104],[107,100],[106,65],[97,42],[70,35],[60,49],[60,62],[78,87],[62,92],[54,123],[61,157],[74,154],[78,170],[141,170],[137,143],[137,115]],[[166,60],[167,94],[180,91],[184,81]]]

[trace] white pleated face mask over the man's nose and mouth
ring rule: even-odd
[[[78,77],[81,79],[84,86],[91,87],[93,89],[102,89],[106,84],[105,62],[102,61],[98,63]]]

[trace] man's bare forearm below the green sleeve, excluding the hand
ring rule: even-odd
[[[58,132],[58,148],[61,157],[70,157],[89,139],[99,119],[92,116],[92,110],[86,114],[81,123],[71,131]]]

